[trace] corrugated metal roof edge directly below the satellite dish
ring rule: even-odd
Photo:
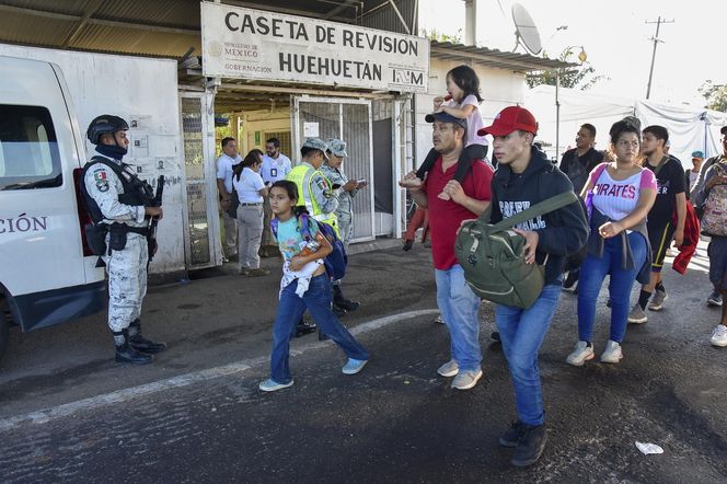
[[[450,42],[431,42],[431,57],[445,60],[475,61],[483,66],[506,69],[516,72],[532,72],[569,68],[576,64],[563,62],[557,59],[547,59],[531,56],[530,54],[504,53],[486,47],[475,47]]]

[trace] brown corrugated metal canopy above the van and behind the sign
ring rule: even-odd
[[[191,47],[200,53],[199,3],[199,0],[0,0],[0,42],[180,58]],[[351,24],[366,24],[371,15],[390,8],[389,0],[226,0],[223,3]]]

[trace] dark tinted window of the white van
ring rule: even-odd
[[[48,110],[0,104],[0,191],[48,188],[62,181]]]

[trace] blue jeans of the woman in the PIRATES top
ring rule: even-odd
[[[596,322],[596,300],[607,274],[611,276],[611,335],[612,342],[621,343],[626,334],[631,288],[636,275],[646,261],[646,240],[638,232],[631,232],[628,245],[634,258],[634,267],[623,268],[621,237],[603,241],[603,255],[588,255],[580,266],[578,278],[578,339],[590,342]]]

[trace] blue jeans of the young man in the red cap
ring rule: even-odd
[[[512,378],[518,419],[528,425],[542,425],[545,418],[538,352],[561,299],[559,280],[545,286],[528,309],[495,306],[495,324]]]

